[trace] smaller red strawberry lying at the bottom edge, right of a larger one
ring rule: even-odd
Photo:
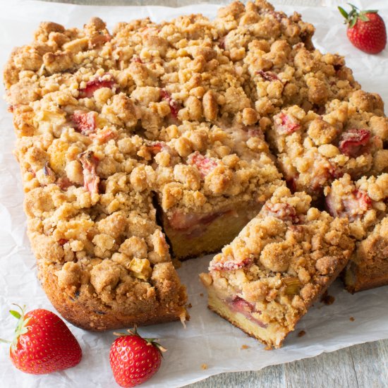
[[[154,342],[154,338],[142,338],[136,331],[119,335],[111,345],[109,360],[114,380],[121,387],[135,387],[149,380],[160,368],[165,348]]]

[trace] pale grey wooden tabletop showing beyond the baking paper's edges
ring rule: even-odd
[[[45,0],[57,1],[57,0]],[[224,4],[227,0],[61,0],[68,4],[112,6],[185,6]],[[275,1],[274,1],[275,2]],[[325,0],[276,0],[277,4],[319,6]],[[338,1],[339,4],[346,1]],[[388,325],[388,322],[387,322]],[[275,365],[252,372],[222,373],[189,388],[265,387],[265,388],[388,388],[388,339],[323,353],[314,358]]]

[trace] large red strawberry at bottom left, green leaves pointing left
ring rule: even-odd
[[[25,314],[11,310],[18,319],[15,337],[9,355],[16,368],[32,375],[44,375],[72,368],[82,357],[78,341],[58,315],[44,309],[32,310]]]

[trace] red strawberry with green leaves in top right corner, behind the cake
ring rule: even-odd
[[[338,7],[341,15],[348,24],[346,34],[353,46],[367,52],[378,54],[387,44],[387,31],[384,20],[375,10],[359,11],[356,6],[349,4],[351,11],[347,13],[344,8]]]

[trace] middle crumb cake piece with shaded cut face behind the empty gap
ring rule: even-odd
[[[284,185],[259,127],[169,126],[144,146],[151,159],[166,236],[178,258],[229,243]]]

